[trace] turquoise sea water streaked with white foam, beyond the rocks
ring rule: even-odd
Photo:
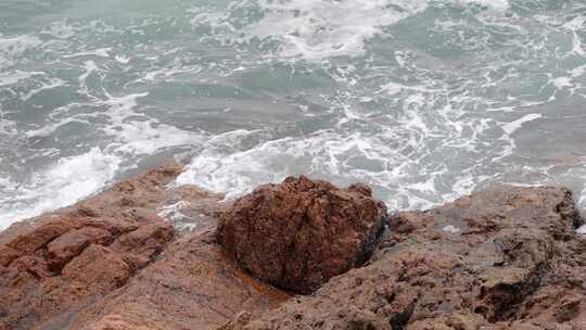
[[[0,1],[0,227],[171,156],[228,198],[308,174],[584,207],[585,142],[586,1]]]

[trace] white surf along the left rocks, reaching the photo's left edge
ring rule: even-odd
[[[93,72],[95,65],[87,65]],[[80,79],[84,85],[86,77]],[[88,94],[89,96],[89,94]],[[139,155],[154,154],[166,148],[196,145],[202,143],[201,134],[187,132],[176,127],[157,123],[154,119],[129,119],[139,117],[133,109],[137,99],[148,93],[113,97],[106,92],[105,100],[92,98],[92,106],[105,106],[106,111],[94,114],[67,115],[69,106],[63,107],[54,123],[28,130],[27,138],[47,137],[68,123],[85,123],[92,116],[107,116],[110,125],[104,132],[116,138],[116,142],[105,149],[93,148],[89,152],[61,158],[56,164],[34,174],[24,183],[0,185],[0,229],[12,223],[37,216],[43,212],[71,205],[106,186],[120,170],[136,166],[130,160]],[[8,182],[8,179],[3,179]]]

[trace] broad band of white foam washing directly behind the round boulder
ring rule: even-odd
[[[436,141],[432,134],[434,129],[415,116],[411,119],[400,128],[388,127],[378,135],[323,130],[304,138],[268,140],[242,151],[234,151],[238,141],[257,132],[240,131],[235,136],[216,137],[214,143],[205,144],[202,153],[193,157],[176,185],[196,185],[211,191],[227,192],[227,198],[232,199],[257,185],[307,174],[342,186],[368,182],[379,193],[388,195],[385,202],[390,207],[405,210],[428,208],[456,199],[489,179],[462,174],[446,181],[450,174],[442,165],[442,157],[438,162],[422,165],[421,160],[438,156],[435,153],[443,153],[442,150],[454,152],[472,145],[462,141],[459,145],[446,145],[446,149],[428,149],[426,143]],[[418,130],[421,132],[417,134]],[[449,129],[446,131],[450,134]],[[449,185],[449,192],[440,191],[438,185]]]

